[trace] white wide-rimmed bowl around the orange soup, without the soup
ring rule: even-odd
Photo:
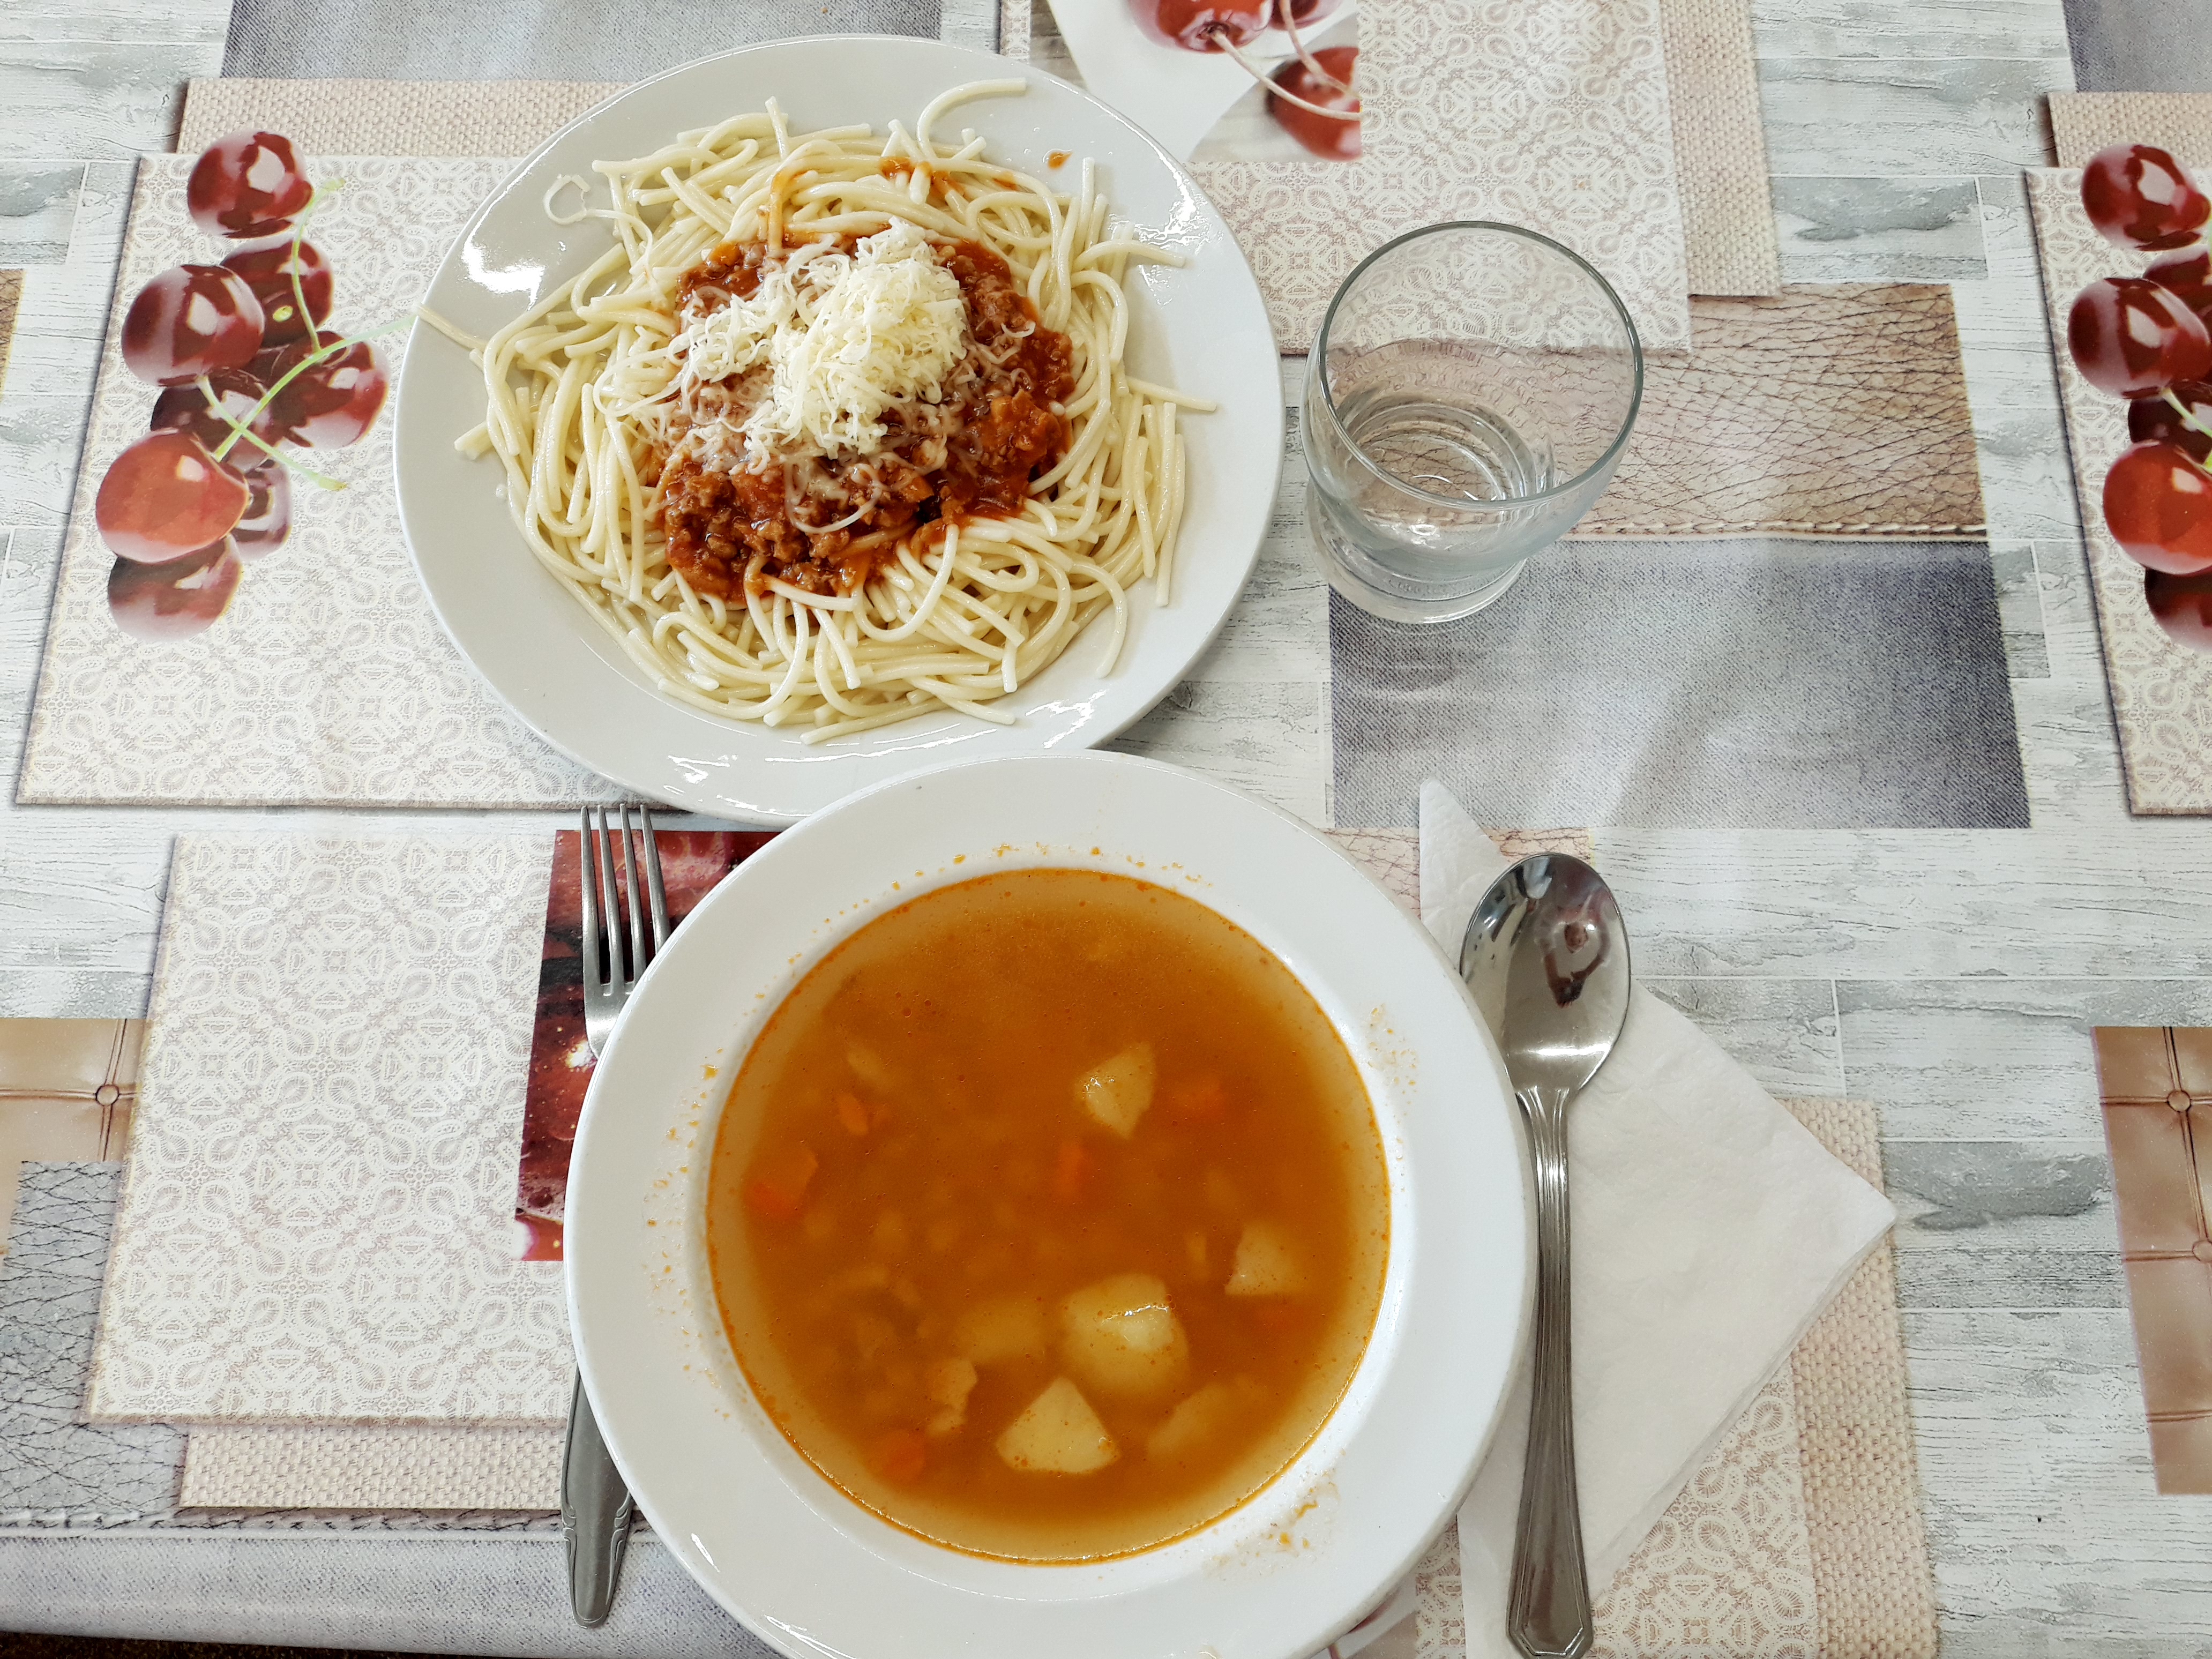
[[[929,1544],[754,1402],[706,1261],[723,1095],[783,995],[874,914],[1009,867],[1172,883],[1259,938],[1354,1055],[1389,1170],[1383,1310],[1345,1398],[1256,1498],[1172,1544],[1020,1564]],[[1117,754],[898,779],[748,858],[630,1000],[568,1175],[577,1365],[655,1535],[794,1659],[1303,1659],[1458,1509],[1520,1352],[1528,1206],[1504,1066],[1429,936],[1327,841]]]

